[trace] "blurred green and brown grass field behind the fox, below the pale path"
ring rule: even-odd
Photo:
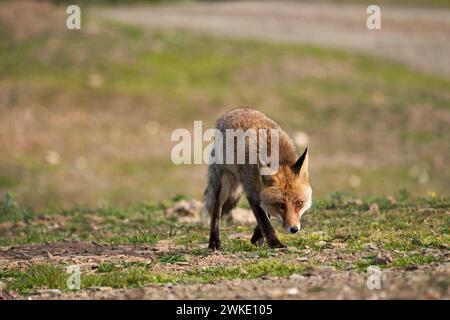
[[[148,32],[89,14],[83,32],[4,30],[0,192],[33,208],[200,198],[206,168],[174,166],[170,133],[212,126],[238,105],[309,135],[319,197],[447,193],[447,79],[351,52]]]

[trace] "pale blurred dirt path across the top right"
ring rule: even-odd
[[[285,2],[200,2],[96,9],[105,18],[150,28],[356,49],[450,76],[450,10],[381,8],[382,30],[366,28],[366,8]]]

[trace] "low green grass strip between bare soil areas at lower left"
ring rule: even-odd
[[[285,277],[293,273],[301,273],[305,266],[301,264],[283,263],[279,260],[266,259],[238,267],[193,268],[186,272],[160,272],[149,268],[134,267],[117,270],[111,265],[101,264],[99,272],[82,274],[82,289],[92,287],[136,288],[148,284],[189,284],[211,283],[217,280],[254,279],[262,276]],[[68,291],[66,285],[68,274],[63,266],[38,264],[26,270],[0,271],[0,279],[6,280],[6,289],[21,294],[33,290],[48,288]]]

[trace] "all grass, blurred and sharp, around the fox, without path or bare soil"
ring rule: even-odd
[[[86,17],[83,32],[50,19],[24,37],[20,26],[1,28],[0,246],[174,246],[148,261],[102,257],[83,273],[83,289],[446,261],[448,79],[351,52]],[[206,226],[165,214],[200,198],[206,172],[174,166],[169,137],[237,105],[309,135],[314,205],[298,235],[276,226],[286,250],[255,247],[253,226],[225,223],[217,258],[205,249]],[[0,282],[24,295],[67,290],[69,262],[58,261],[1,265]]]

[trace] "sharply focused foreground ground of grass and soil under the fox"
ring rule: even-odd
[[[279,228],[287,249],[253,246],[253,226],[228,221],[219,252],[207,250],[198,218],[169,214],[179,201],[36,213],[10,199],[0,224],[3,297],[450,297],[446,198],[335,195],[316,201],[299,235]],[[67,287],[70,265],[80,267],[79,291]],[[366,286],[369,266],[381,270],[379,290]]]

